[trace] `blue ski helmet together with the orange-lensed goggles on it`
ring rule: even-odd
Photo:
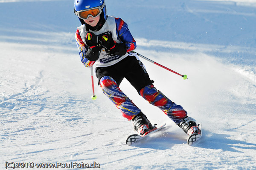
[[[74,12],[79,19],[96,17],[103,12],[104,19],[107,20],[105,0],[75,0]]]

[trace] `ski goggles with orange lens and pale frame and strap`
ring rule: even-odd
[[[102,10],[104,7],[105,7],[105,1],[102,4],[102,6],[98,6],[98,7],[91,8],[91,9],[85,9],[85,10],[81,10],[81,11],[74,10],[74,12],[79,18],[87,20],[89,16],[92,16],[92,17],[99,16],[99,14],[102,13]]]

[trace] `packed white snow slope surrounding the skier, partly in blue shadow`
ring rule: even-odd
[[[256,1],[106,0],[137,41],[154,85],[203,125],[196,147],[124,80],[153,124],[129,147],[131,122],[78,54],[73,0],[0,0],[0,170],[6,161],[93,163],[104,170],[256,170]],[[95,78],[95,84],[97,80]]]

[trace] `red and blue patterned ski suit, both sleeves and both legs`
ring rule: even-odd
[[[136,42],[132,37],[127,24],[120,18],[115,18],[116,23],[116,35],[122,43],[127,46],[127,52],[131,52],[136,48]],[[83,42],[79,30],[76,32],[76,43],[79,48],[79,54],[82,63],[86,67],[91,67],[95,61],[88,61],[85,58],[88,46]],[[127,56],[129,58],[131,56]],[[97,66],[97,65],[96,65]],[[120,89],[119,85],[110,76],[103,76],[99,78],[99,84],[103,92],[113,102],[113,104],[122,112],[123,117],[131,120],[135,115],[140,113],[140,109],[128,98]],[[147,100],[150,104],[161,109],[169,118],[171,118],[176,124],[180,123],[187,112],[180,106],[172,102],[169,98],[158,91],[153,84],[148,84],[142,89],[137,89],[139,94]]]

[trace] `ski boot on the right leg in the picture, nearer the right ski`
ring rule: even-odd
[[[201,134],[201,130],[195,122],[195,119],[186,116],[183,118],[178,126],[189,136],[193,134]]]

